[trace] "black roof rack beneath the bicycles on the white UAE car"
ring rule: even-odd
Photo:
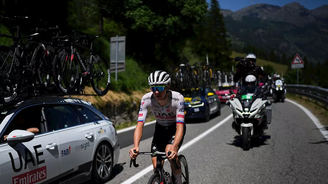
[[[14,107],[18,104],[20,104],[23,101],[27,100],[34,100],[34,99],[39,99],[39,98],[44,98],[44,97],[64,97],[68,96],[67,98],[72,98],[71,96],[98,96],[97,94],[87,94],[85,91],[80,92],[80,93],[49,93],[49,94],[33,94],[33,95],[26,95],[26,96],[21,96],[15,98],[15,100],[10,101],[8,103],[0,104],[0,109],[5,110],[11,107]]]

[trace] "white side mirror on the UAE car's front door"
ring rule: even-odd
[[[29,142],[33,138],[34,134],[32,132],[26,130],[14,130],[7,136],[7,141],[10,145],[16,145],[21,142]]]

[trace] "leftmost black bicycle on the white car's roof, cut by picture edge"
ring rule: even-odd
[[[47,76],[47,61],[49,51],[45,48],[40,39],[40,33],[28,36],[21,36],[20,23],[28,20],[28,17],[15,16],[14,19],[2,17],[1,21],[7,23],[10,27],[11,36],[0,34],[0,37],[12,38],[13,46],[0,46],[1,64],[0,78],[0,103],[13,102],[18,96],[34,96],[39,92],[39,88],[46,88],[46,83],[41,80],[42,76]],[[16,24],[17,27],[13,27]],[[17,28],[16,35],[13,29]],[[23,43],[23,39],[32,43]],[[10,59],[9,59],[10,58]],[[11,63],[10,63],[11,60]]]

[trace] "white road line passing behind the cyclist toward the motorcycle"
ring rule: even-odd
[[[203,132],[199,136],[195,137],[194,139],[190,140],[186,144],[182,145],[181,148],[179,149],[179,153],[181,151],[183,151],[184,149],[188,148],[189,146],[191,146],[192,144],[194,144],[196,141],[200,140],[201,138],[203,138],[206,135],[208,135],[209,133],[211,133],[213,130],[215,130],[216,128],[218,128],[219,126],[221,126],[223,123],[225,123],[226,121],[228,121],[230,118],[232,118],[232,114],[230,114],[229,116],[227,116],[222,121],[218,122],[216,125],[212,126],[210,129],[206,130],[205,132]],[[188,160],[188,158],[187,158],[187,160]],[[167,159],[165,161],[167,161]],[[130,177],[129,179],[125,180],[121,184],[131,184],[135,180],[139,179],[140,177],[142,177],[143,175],[147,174],[150,171],[153,171],[153,164],[150,165],[150,166],[148,166],[144,170],[140,171],[139,173],[135,174],[134,176]]]

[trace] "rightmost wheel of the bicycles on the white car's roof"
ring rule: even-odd
[[[111,84],[111,70],[106,59],[100,55],[92,56],[90,83],[98,96],[107,94]]]

